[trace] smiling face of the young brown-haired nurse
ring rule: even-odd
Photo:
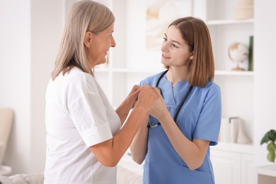
[[[183,40],[180,30],[175,25],[171,25],[165,33],[161,45],[161,63],[168,67],[189,67],[192,52]]]

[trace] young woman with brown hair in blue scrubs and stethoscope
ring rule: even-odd
[[[161,45],[166,71],[141,82],[159,88],[159,103],[130,148],[144,160],[144,184],[214,183],[209,146],[218,142],[221,93],[207,26],[193,17],[168,26]]]

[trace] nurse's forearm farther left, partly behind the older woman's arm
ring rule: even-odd
[[[149,122],[148,120],[146,122]],[[140,127],[139,131],[135,135],[132,144],[130,144],[130,151],[132,153],[132,159],[141,164],[144,161],[147,150],[147,142],[148,142],[148,128],[146,127],[146,123]]]

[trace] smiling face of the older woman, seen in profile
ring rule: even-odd
[[[114,23],[100,33],[86,32],[84,45],[91,69],[106,62],[106,55],[110,47],[115,47],[113,38]]]

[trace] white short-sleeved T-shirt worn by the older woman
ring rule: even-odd
[[[46,183],[116,183],[116,167],[89,149],[120,130],[120,118],[91,74],[73,68],[46,91]]]

